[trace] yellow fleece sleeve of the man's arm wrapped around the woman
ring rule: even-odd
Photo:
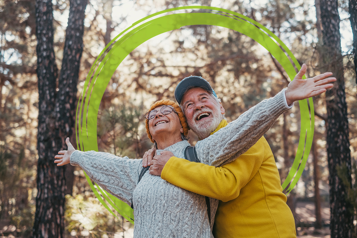
[[[240,189],[260,168],[265,158],[265,141],[262,137],[246,153],[222,167],[171,157],[162,170],[161,178],[188,191],[223,202],[230,201],[239,196]]]

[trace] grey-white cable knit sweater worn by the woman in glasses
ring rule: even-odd
[[[285,91],[282,90],[275,97],[252,107],[210,137],[198,141],[196,151],[200,161],[217,167],[247,151],[281,113],[290,109],[284,97]],[[176,157],[184,158],[184,150],[188,145],[187,141],[180,141],[165,150],[171,151]],[[157,153],[160,151],[157,150]],[[142,159],[76,150],[70,161],[72,165],[82,167],[97,184],[125,203],[131,205],[132,199],[134,237],[213,237],[205,197],[176,187],[148,172],[137,184]],[[211,199],[213,218],[217,205],[218,200]],[[211,221],[213,224],[214,219]]]

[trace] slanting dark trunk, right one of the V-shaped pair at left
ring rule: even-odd
[[[79,66],[83,51],[84,17],[87,0],[71,0],[62,68],[58,82],[59,92],[56,97],[56,130],[60,150],[66,149],[65,138],[70,137],[75,126],[76,95]],[[76,148],[76,145],[74,145]],[[68,171],[67,171],[68,170]],[[66,169],[65,194],[72,194],[74,167]]]

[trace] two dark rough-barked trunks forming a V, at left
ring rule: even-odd
[[[65,167],[54,156],[72,134],[86,0],[71,0],[60,77],[53,47],[51,0],[36,0],[39,125],[37,134],[37,196],[32,237],[64,237]]]

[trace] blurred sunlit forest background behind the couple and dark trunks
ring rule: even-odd
[[[60,70],[64,51],[68,0],[52,0],[53,46]],[[89,0],[85,9],[83,52],[79,67],[78,100],[90,68],[102,49],[132,23],[160,10],[205,5],[229,9],[266,26],[291,49],[306,77],[323,71],[319,0]],[[191,11],[191,10],[190,10]],[[356,75],[348,1],[338,1],[352,168],[357,158]],[[37,195],[37,85],[35,1],[0,0],[0,236],[30,237]],[[183,27],[140,45],[118,67],[106,88],[98,115],[99,151],[141,158],[152,147],[144,115],[156,100],[174,100],[177,83],[186,76],[207,79],[222,98],[228,121],[261,100],[274,96],[290,79],[270,53],[249,37],[210,25]],[[56,91],[61,88],[57,81]],[[300,237],[330,237],[329,172],[326,151],[326,96],[313,98],[315,134],[305,171],[288,204]],[[300,137],[297,105],[266,133],[282,182],[291,167]],[[77,105],[77,101],[75,102]],[[71,136],[75,144],[75,135]],[[190,142],[197,137],[190,133]],[[54,155],[49,158],[51,160]],[[343,175],[343,168],[340,169]],[[353,174],[355,173],[355,174]],[[342,176],[341,175],[341,176]],[[51,176],[51,174],[49,174]],[[80,168],[67,166],[65,236],[130,237],[132,227],[100,204]],[[352,170],[355,203],[356,170]],[[354,192],[354,193],[353,193]],[[318,209],[315,209],[317,207]]]

